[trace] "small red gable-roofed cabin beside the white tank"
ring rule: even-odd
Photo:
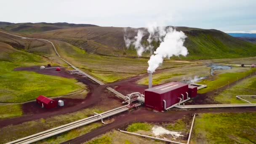
[[[46,109],[51,109],[54,107],[57,107],[57,101],[54,101],[46,96],[38,96],[37,97],[37,104],[39,104],[42,107],[45,107]]]

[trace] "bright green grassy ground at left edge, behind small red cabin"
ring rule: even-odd
[[[0,42],[0,102],[28,101],[38,95],[60,96],[83,88],[74,79],[13,71],[15,67],[47,63],[41,56],[19,51],[11,45]]]

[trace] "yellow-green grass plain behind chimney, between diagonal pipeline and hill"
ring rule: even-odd
[[[141,73],[147,73],[147,61],[145,58],[117,57],[117,56],[100,56],[92,53],[86,53],[84,50],[64,43],[54,41],[59,54],[74,64],[76,67],[83,69],[85,72],[97,77],[105,83],[111,83],[116,80],[133,77]],[[179,67],[191,64],[189,62],[165,60],[164,64],[158,69]]]

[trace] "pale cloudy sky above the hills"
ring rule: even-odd
[[[256,0],[4,0],[0,21],[184,26],[256,33]]]

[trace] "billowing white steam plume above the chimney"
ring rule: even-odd
[[[142,45],[142,38],[148,34],[148,45]],[[125,29],[125,45],[128,48],[130,45],[134,45],[137,50],[138,56],[141,56],[144,51],[153,51],[152,42],[160,41],[159,47],[154,51],[154,54],[150,56],[148,61],[148,71],[155,72],[155,69],[163,63],[164,58],[170,58],[171,56],[187,56],[187,48],[183,46],[185,38],[187,36],[183,32],[176,31],[172,27],[157,27],[157,23],[149,24],[147,29],[139,29],[137,35],[134,38],[126,32]]]

